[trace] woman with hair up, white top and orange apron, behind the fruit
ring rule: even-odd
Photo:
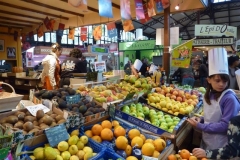
[[[43,60],[43,70],[41,74],[41,83],[43,88],[53,90],[59,88],[60,81],[60,60],[59,57],[62,53],[62,47],[55,43],[51,47],[49,53]]]

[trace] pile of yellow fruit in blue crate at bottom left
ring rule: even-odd
[[[97,153],[88,144],[88,137],[78,137],[79,131],[75,130],[71,133],[71,137],[67,141],[59,142],[56,148],[52,148],[49,144],[45,147],[34,149],[31,159],[52,159],[52,160],[87,160]]]

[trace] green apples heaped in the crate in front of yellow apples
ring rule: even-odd
[[[141,103],[125,105],[121,110],[170,133],[173,132],[174,128],[180,122],[180,118],[178,117],[164,114],[162,111],[149,109],[147,105],[142,105]]]

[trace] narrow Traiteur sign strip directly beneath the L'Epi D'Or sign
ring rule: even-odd
[[[195,39],[193,46],[232,45],[233,38]]]

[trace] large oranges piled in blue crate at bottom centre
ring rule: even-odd
[[[95,124],[91,130],[85,131],[85,135],[98,143],[115,140],[116,148],[126,153],[126,160],[137,160],[133,156],[133,148],[141,150],[144,156],[158,158],[166,147],[165,140],[147,139],[138,129],[131,129],[127,133],[116,120],[112,122],[104,120],[101,124]]]

